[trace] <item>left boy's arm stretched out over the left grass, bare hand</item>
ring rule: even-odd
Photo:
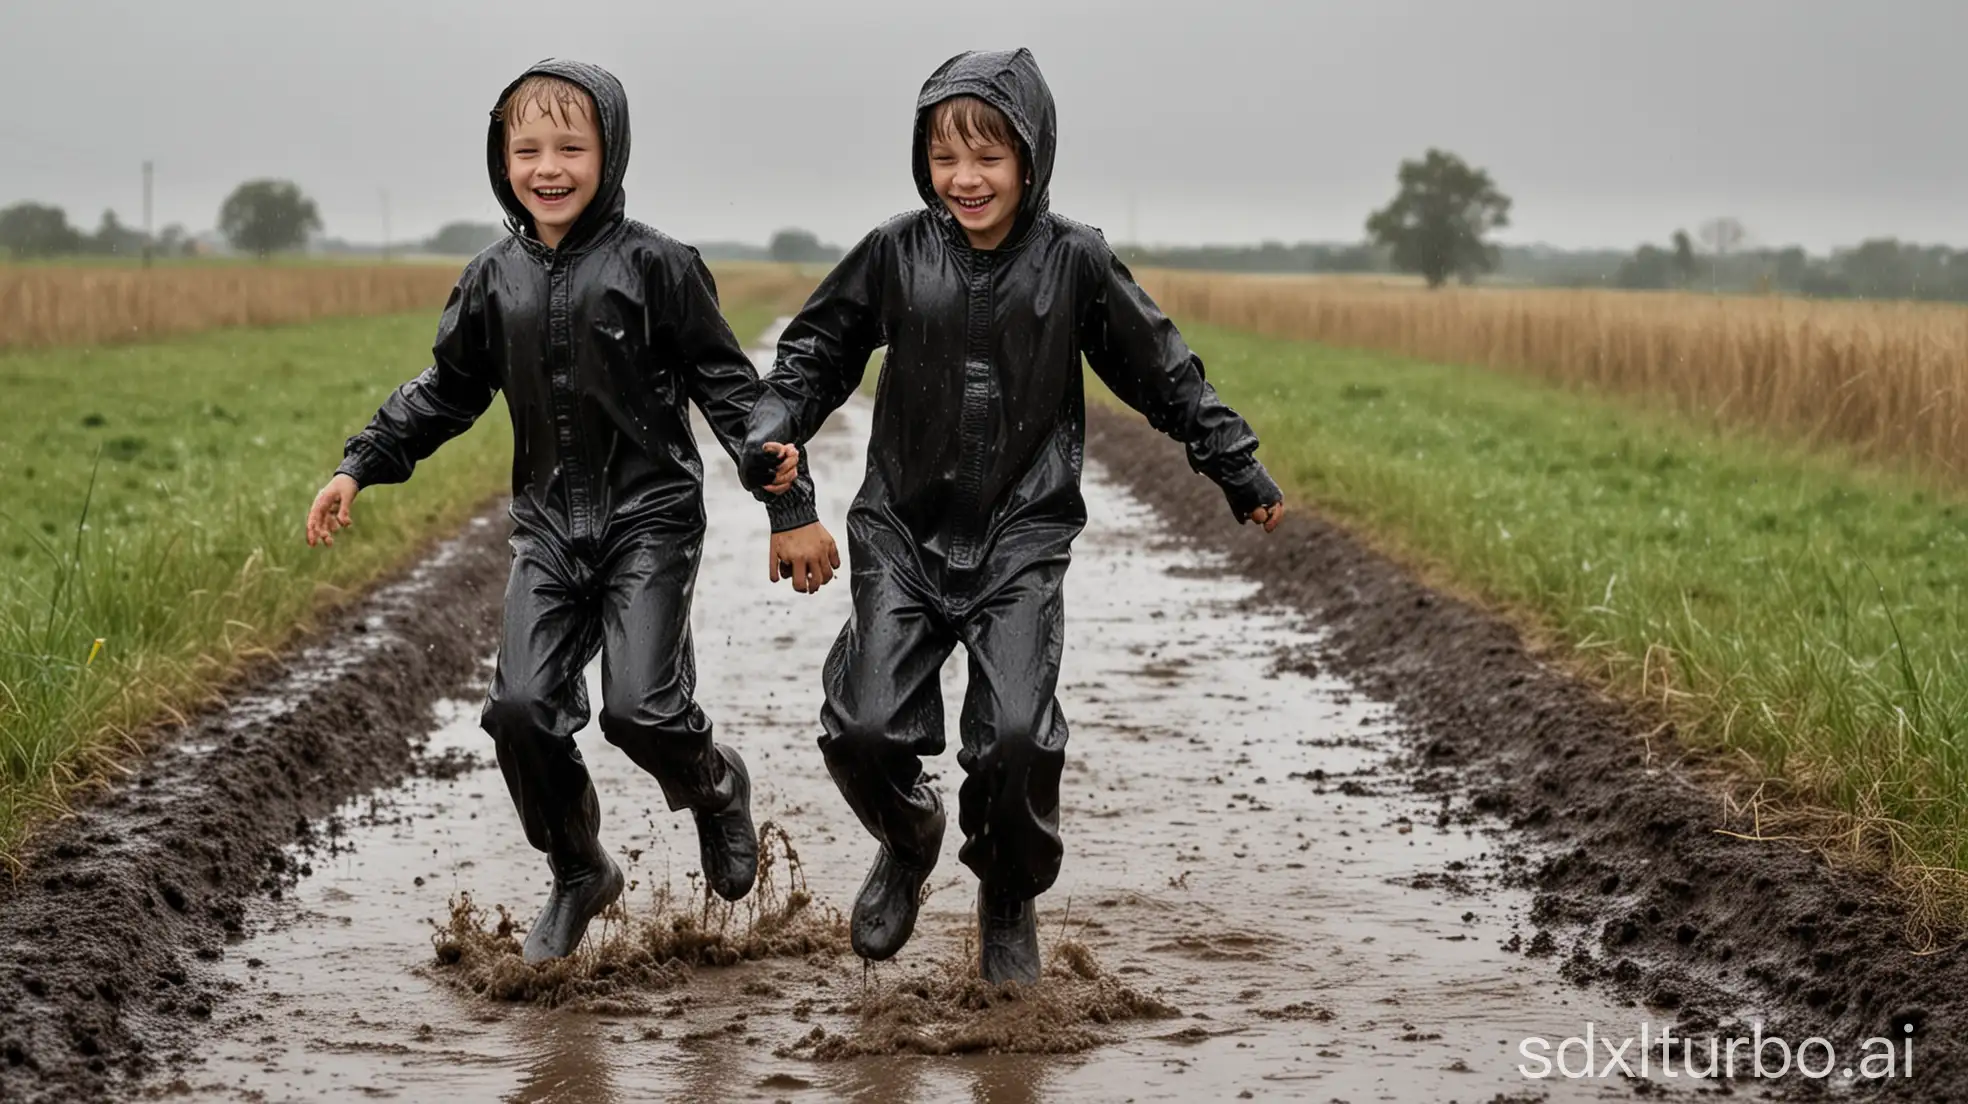
[[[464,266],[437,319],[431,366],[384,399],[362,433],[342,447],[335,478],[307,512],[307,543],[333,545],[335,529],[352,525],[356,492],[380,482],[403,482],[439,445],[464,433],[492,405],[498,380],[484,342],[484,295],[478,262]]]

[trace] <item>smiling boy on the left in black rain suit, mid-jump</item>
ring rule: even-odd
[[[705,880],[752,889],[750,777],[693,701],[691,586],[703,551],[703,409],[771,525],[815,525],[799,451],[742,451],[762,388],[697,250],[626,218],[628,96],[606,71],[543,61],[498,98],[486,136],[512,234],[445,305],[433,364],[398,388],[315,498],[307,543],[335,543],[358,490],[403,482],[504,392],[512,415],[512,577],[482,726],[553,889],[527,931],[569,954],[622,891],[575,732],[602,657],[600,728],[697,821]]]

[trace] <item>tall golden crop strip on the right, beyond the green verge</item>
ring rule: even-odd
[[[1143,270],[1177,321],[1610,390],[1870,460],[1968,468],[1968,307]]]

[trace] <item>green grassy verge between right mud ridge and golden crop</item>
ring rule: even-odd
[[[1663,703],[1775,797],[1765,830],[1968,919],[1964,502],[1631,401],[1185,333],[1293,500]]]

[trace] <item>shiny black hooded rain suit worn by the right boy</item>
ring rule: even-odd
[[[970,246],[935,193],[925,124],[951,96],[1006,114],[1029,175],[1012,232]],[[923,211],[878,226],[785,331],[752,443],[807,441],[888,346],[868,476],[848,512],[854,614],[825,667],[821,750],[862,825],[907,866],[935,862],[937,673],[962,644],[960,858],[1035,897],[1059,876],[1067,720],[1053,697],[1073,537],[1086,523],[1080,356],[1181,441],[1240,520],[1279,500],[1258,437],[1202,378],[1175,325],[1098,230],[1047,209],[1053,96],[1029,51],[964,53],[917,98]]]

